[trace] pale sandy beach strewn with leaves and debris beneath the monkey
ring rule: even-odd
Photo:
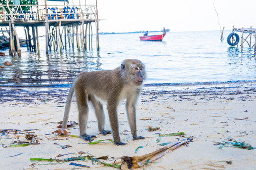
[[[119,106],[119,133],[125,146],[110,141],[99,144],[79,136],[79,126],[68,127],[69,136],[52,134],[63,119],[68,88],[0,88],[0,129],[18,129],[0,136],[1,170],[70,170],[78,169],[71,162],[90,166],[91,170],[111,170],[91,160],[49,164],[49,161],[30,161],[30,158],[63,159],[91,154],[95,158],[108,155],[108,163],[120,164],[121,156],[139,156],[164,146],[159,144],[193,138],[186,146],[165,154],[145,170],[254,170],[256,150],[214,145],[233,138],[256,147],[256,82],[219,85],[146,86],[137,103],[137,134],[146,137],[132,140],[125,112],[125,102]],[[73,98],[75,101],[75,98]],[[106,111],[106,129],[110,130]],[[69,121],[78,122],[77,106],[72,103]],[[97,135],[94,141],[112,139],[99,134],[96,117],[90,106],[88,134]],[[148,131],[148,127],[160,130]],[[25,131],[29,129],[31,131]],[[34,129],[34,130],[33,130]],[[183,136],[162,136],[184,132]],[[39,144],[9,147],[27,141],[27,134],[37,135]],[[71,136],[73,135],[73,136]],[[157,143],[156,139],[160,139]],[[16,142],[16,143],[15,143]],[[36,142],[35,139],[32,142]],[[140,148],[135,153],[138,146]],[[66,148],[64,147],[66,145]],[[228,145],[227,145],[228,146]],[[69,154],[70,153],[70,154]],[[57,157],[59,154],[67,154]],[[227,161],[231,161],[228,164]],[[53,161],[51,163],[56,163]],[[85,168],[82,168],[85,169]],[[140,168],[142,170],[142,168]]]

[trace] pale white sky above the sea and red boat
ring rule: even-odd
[[[97,0],[100,32],[256,28],[256,0]],[[71,0],[70,0],[71,2]],[[74,0],[74,3],[76,0]],[[95,4],[95,0],[86,0]]]

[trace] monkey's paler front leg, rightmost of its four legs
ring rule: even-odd
[[[128,114],[128,121],[131,128],[131,134],[133,140],[136,139],[145,139],[143,136],[137,136],[137,125],[136,125],[136,99],[127,99],[126,102],[126,111]]]

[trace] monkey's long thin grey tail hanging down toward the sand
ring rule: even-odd
[[[73,94],[74,94],[74,85],[75,85],[75,81],[71,85],[71,88],[70,88],[69,93],[68,93],[66,106],[65,106],[65,111],[64,111],[64,118],[63,118],[63,122],[62,122],[62,128],[67,128],[70,105],[71,105]]]

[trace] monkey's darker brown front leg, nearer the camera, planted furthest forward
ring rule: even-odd
[[[110,117],[110,125],[112,129],[114,143],[116,145],[125,145],[126,143],[121,142],[120,136],[119,136],[117,105],[115,104],[115,102],[108,102],[108,112]]]

